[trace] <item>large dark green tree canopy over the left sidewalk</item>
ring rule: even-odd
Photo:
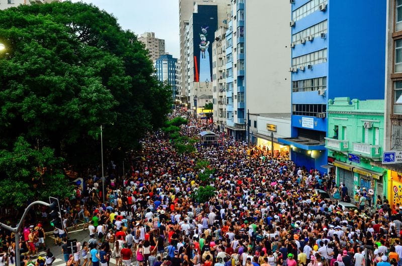
[[[170,88],[156,79],[136,35],[105,11],[71,2],[22,5],[0,11],[0,23],[7,47],[0,54],[0,161],[23,143],[49,148],[80,170],[100,161],[101,124],[114,156],[164,125]],[[0,169],[0,182],[16,178]]]

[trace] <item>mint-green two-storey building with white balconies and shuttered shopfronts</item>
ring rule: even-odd
[[[345,184],[351,198],[360,187],[372,191],[372,200],[377,195],[382,199],[387,194],[387,172],[373,166],[373,162],[380,162],[382,158],[384,100],[337,97],[328,101],[327,111],[325,148],[335,167],[337,184]]]

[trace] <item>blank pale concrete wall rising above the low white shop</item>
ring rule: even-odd
[[[245,1],[245,90],[251,113],[290,111],[290,4]]]

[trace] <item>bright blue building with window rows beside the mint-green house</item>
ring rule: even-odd
[[[386,1],[290,0],[291,146],[297,165],[326,172],[328,99],[384,98]]]

